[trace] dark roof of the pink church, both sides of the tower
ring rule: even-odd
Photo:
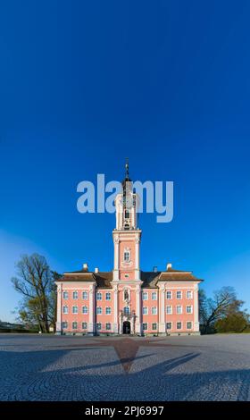
[[[198,279],[192,272],[174,270],[168,267],[165,272],[143,272],[141,271],[143,288],[157,288],[158,281],[203,281]],[[60,281],[93,281],[97,288],[112,289],[112,272],[92,273],[86,270],[64,273]]]

